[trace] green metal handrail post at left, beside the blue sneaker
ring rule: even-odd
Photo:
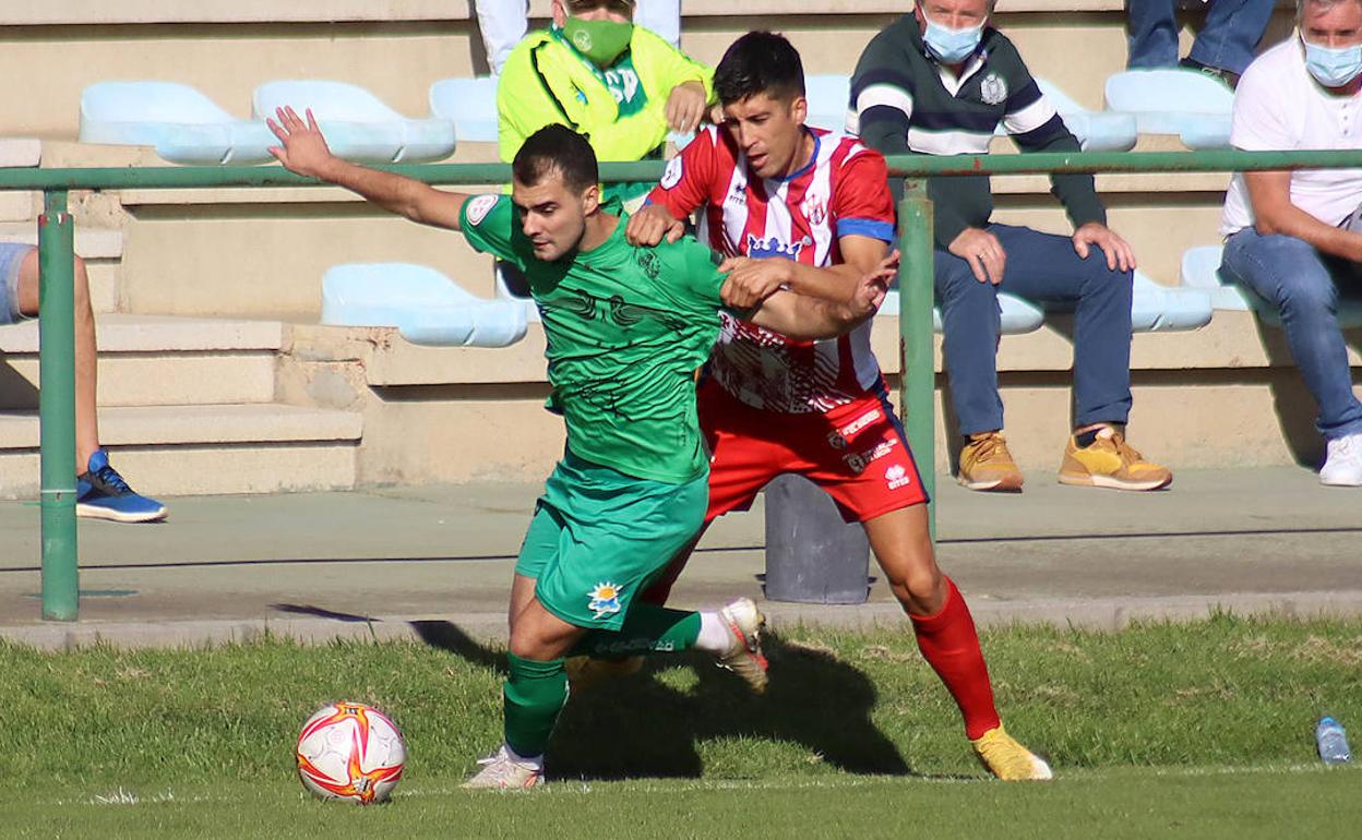
[[[42,462],[42,618],[76,621],[75,225],[67,192],[46,191],[38,218],[38,436]]]

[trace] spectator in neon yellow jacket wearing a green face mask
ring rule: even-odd
[[[667,132],[695,131],[714,97],[714,71],[633,26],[633,0],[553,0],[553,25],[530,33],[497,86],[500,154],[549,124],[587,136],[601,161],[661,158]],[[624,201],[651,184],[620,184]]]

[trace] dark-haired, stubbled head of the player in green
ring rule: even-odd
[[[511,163],[511,201],[539,260],[577,249],[601,210],[601,174],[587,139],[565,125],[530,135]]]

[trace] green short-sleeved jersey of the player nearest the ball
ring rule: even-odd
[[[459,227],[475,249],[524,271],[548,338],[549,410],[563,414],[568,449],[650,481],[704,475],[693,374],[723,306],[711,251],[692,238],[633,248],[621,218],[601,245],[546,263],[497,195],[464,203]]]

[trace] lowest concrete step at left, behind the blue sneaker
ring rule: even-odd
[[[114,407],[101,441],[151,496],[351,489],[358,414],[282,404]],[[37,413],[0,413],[0,498],[39,486]]]

